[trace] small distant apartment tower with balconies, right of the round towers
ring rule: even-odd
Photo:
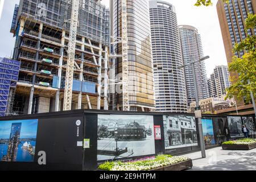
[[[226,89],[231,86],[228,66],[221,65],[214,68],[214,73],[210,75],[208,89],[210,97],[222,97],[226,94]]]

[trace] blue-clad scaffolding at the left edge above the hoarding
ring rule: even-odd
[[[12,113],[20,61],[0,57],[0,116]]]

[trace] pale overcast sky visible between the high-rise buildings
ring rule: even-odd
[[[214,5],[211,7],[195,7],[193,5],[196,0],[165,1],[170,2],[175,6],[179,24],[194,26],[198,29],[199,34],[201,34],[204,55],[210,56],[210,59],[205,62],[207,67],[207,76],[210,76],[214,67],[217,65],[227,65],[216,10],[217,0],[213,0]],[[10,27],[15,3],[19,3],[19,0],[6,0],[3,5],[3,12],[0,19],[0,57],[10,56],[13,51],[15,39],[10,33]],[[109,6],[109,0],[103,0],[102,3]]]

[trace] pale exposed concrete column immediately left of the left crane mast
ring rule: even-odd
[[[60,59],[59,59],[59,69],[58,69],[58,77],[59,77],[59,85],[56,92],[56,98],[55,98],[55,111],[60,111],[60,86],[61,86],[61,76],[62,76],[62,66],[63,66],[63,55],[64,55],[64,46],[65,46],[65,30],[62,31],[61,36],[61,45],[63,47],[60,48]]]

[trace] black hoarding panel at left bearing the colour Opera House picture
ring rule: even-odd
[[[0,121],[0,147],[3,154],[0,169],[82,170],[83,113],[36,114],[13,118],[15,120],[6,117]],[[3,129],[6,129],[9,137],[5,136]],[[3,138],[9,141],[4,142]],[[8,147],[10,142],[15,144],[14,148]]]

